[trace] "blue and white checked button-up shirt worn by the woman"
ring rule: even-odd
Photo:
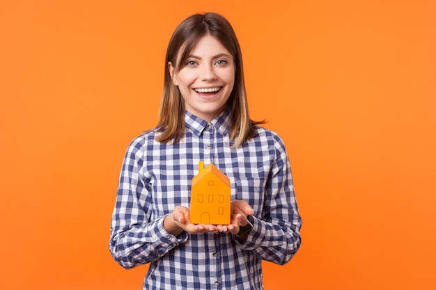
[[[286,264],[300,245],[301,218],[286,149],[277,134],[257,134],[231,149],[228,113],[212,122],[185,113],[178,144],[135,138],[120,173],[109,249],[124,268],[150,263],[143,289],[263,289],[261,260]],[[214,163],[231,180],[232,200],[254,209],[247,241],[231,234],[173,236],[163,227],[174,207],[189,207],[198,161]]]

